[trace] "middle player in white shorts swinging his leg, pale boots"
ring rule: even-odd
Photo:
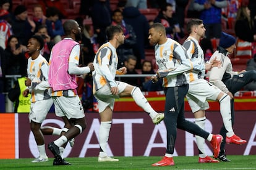
[[[106,29],[108,42],[103,44],[95,55],[93,65],[93,94],[98,101],[98,110],[100,113],[100,154],[98,161],[119,161],[107,155],[108,136],[112,123],[114,100],[119,97],[132,96],[137,105],[148,113],[153,123],[160,123],[164,115],[156,113],[150,106],[139,87],[116,81],[117,74],[126,74],[126,67],[117,70],[118,58],[116,49],[124,43],[124,33],[121,26],[108,26]]]

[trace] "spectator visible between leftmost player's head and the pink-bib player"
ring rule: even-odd
[[[45,42],[43,49],[41,49],[40,54],[45,57],[46,61],[49,62],[49,56],[51,54],[51,49],[54,46],[54,42],[51,41],[51,37],[48,34],[47,26],[46,25],[40,25],[38,27],[38,31],[36,34],[39,34],[43,41]]]

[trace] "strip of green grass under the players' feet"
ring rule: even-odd
[[[161,156],[114,156],[118,162],[98,163],[96,157],[87,158],[66,158],[72,163],[71,166],[53,166],[53,158],[49,158],[45,163],[31,163],[32,158],[22,158],[17,160],[0,160],[0,169],[256,169],[256,155],[241,156],[228,155],[232,160],[229,163],[197,163],[197,156],[176,156],[175,165],[168,167],[153,167],[152,163],[161,160]]]

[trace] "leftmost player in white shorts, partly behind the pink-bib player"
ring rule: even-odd
[[[28,59],[27,73],[28,77],[25,80],[25,86],[27,89],[22,92],[24,97],[28,97],[31,93],[31,106],[29,113],[30,129],[35,137],[36,145],[40,156],[33,160],[33,163],[48,161],[48,156],[45,152],[45,139],[43,132],[41,131],[41,123],[46,118],[46,115],[53,105],[53,100],[49,94],[48,83],[48,62],[45,57],[40,55],[40,50],[44,46],[44,41],[41,36],[34,35],[28,40]],[[51,127],[55,131],[62,131],[61,129]]]

